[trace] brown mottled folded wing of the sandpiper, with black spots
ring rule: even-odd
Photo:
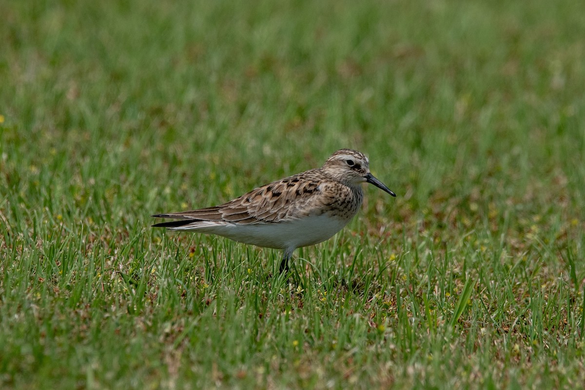
[[[314,213],[324,197],[319,187],[321,181],[315,171],[308,170],[266,184],[220,206],[157,216],[235,224],[294,220]]]

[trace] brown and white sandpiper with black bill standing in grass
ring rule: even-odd
[[[281,249],[279,271],[288,272],[295,249],[326,241],[352,220],[362,205],[362,183],[396,196],[370,173],[369,166],[361,152],[340,149],[321,168],[257,187],[219,206],[152,215],[177,220],[152,226]]]

